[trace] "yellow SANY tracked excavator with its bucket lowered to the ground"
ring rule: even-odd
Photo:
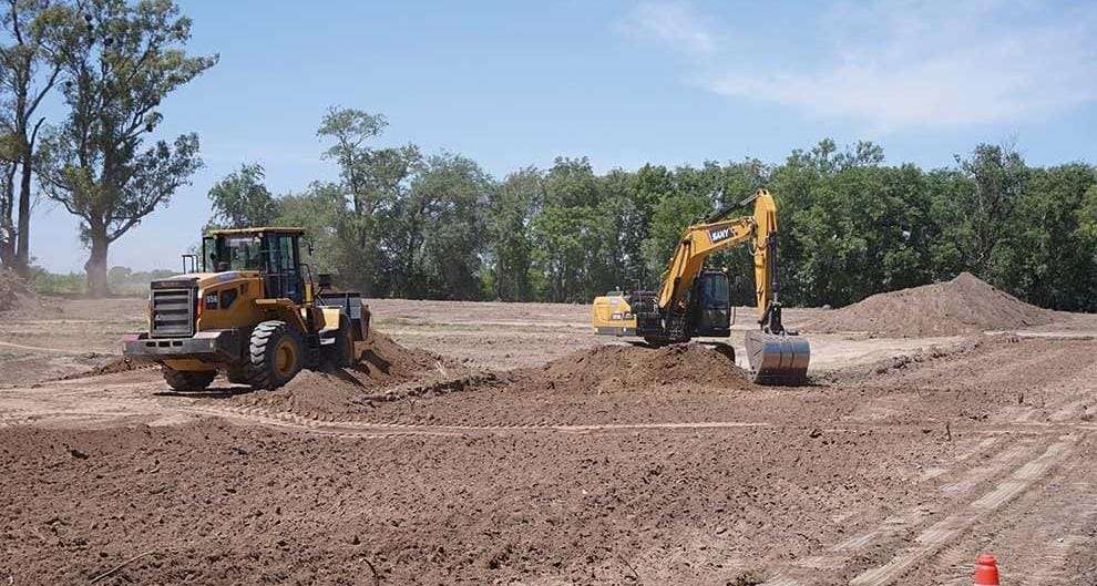
[[[687,342],[694,337],[731,333],[731,304],[726,270],[707,269],[715,253],[747,245],[755,266],[757,330],[746,335],[747,358],[756,382],[807,382],[808,340],[785,329],[777,282],[777,205],[759,189],[739,205],[755,205],[752,216],[730,217],[724,209],[686,228],[657,291],[611,291],[594,300],[596,333],[643,338],[649,346]]]

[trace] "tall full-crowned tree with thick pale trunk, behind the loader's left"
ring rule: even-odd
[[[198,137],[145,140],[163,122],[158,107],[217,62],[189,56],[191,20],[168,0],[84,4],[86,27],[65,55],[69,114],[48,142],[47,194],[80,218],[91,255],[88,291],[106,294],[111,243],[188,183],[202,165]]]

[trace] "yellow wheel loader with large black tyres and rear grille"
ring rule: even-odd
[[[158,362],[177,391],[203,390],[218,371],[277,389],[301,369],[350,366],[369,308],[357,292],[330,291],[330,275],[314,282],[300,260],[304,232],[206,234],[201,255],[183,255],[183,274],[152,281],[148,330],[125,337],[125,356]]]

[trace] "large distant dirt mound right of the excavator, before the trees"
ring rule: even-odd
[[[946,282],[873,295],[804,325],[809,331],[898,337],[955,336],[1048,323],[1055,312],[995,289],[970,273]]]

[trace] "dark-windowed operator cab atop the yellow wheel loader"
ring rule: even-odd
[[[303,228],[244,228],[213,230],[202,239],[206,273],[254,270],[263,277],[265,297],[305,302],[301,270]]]

